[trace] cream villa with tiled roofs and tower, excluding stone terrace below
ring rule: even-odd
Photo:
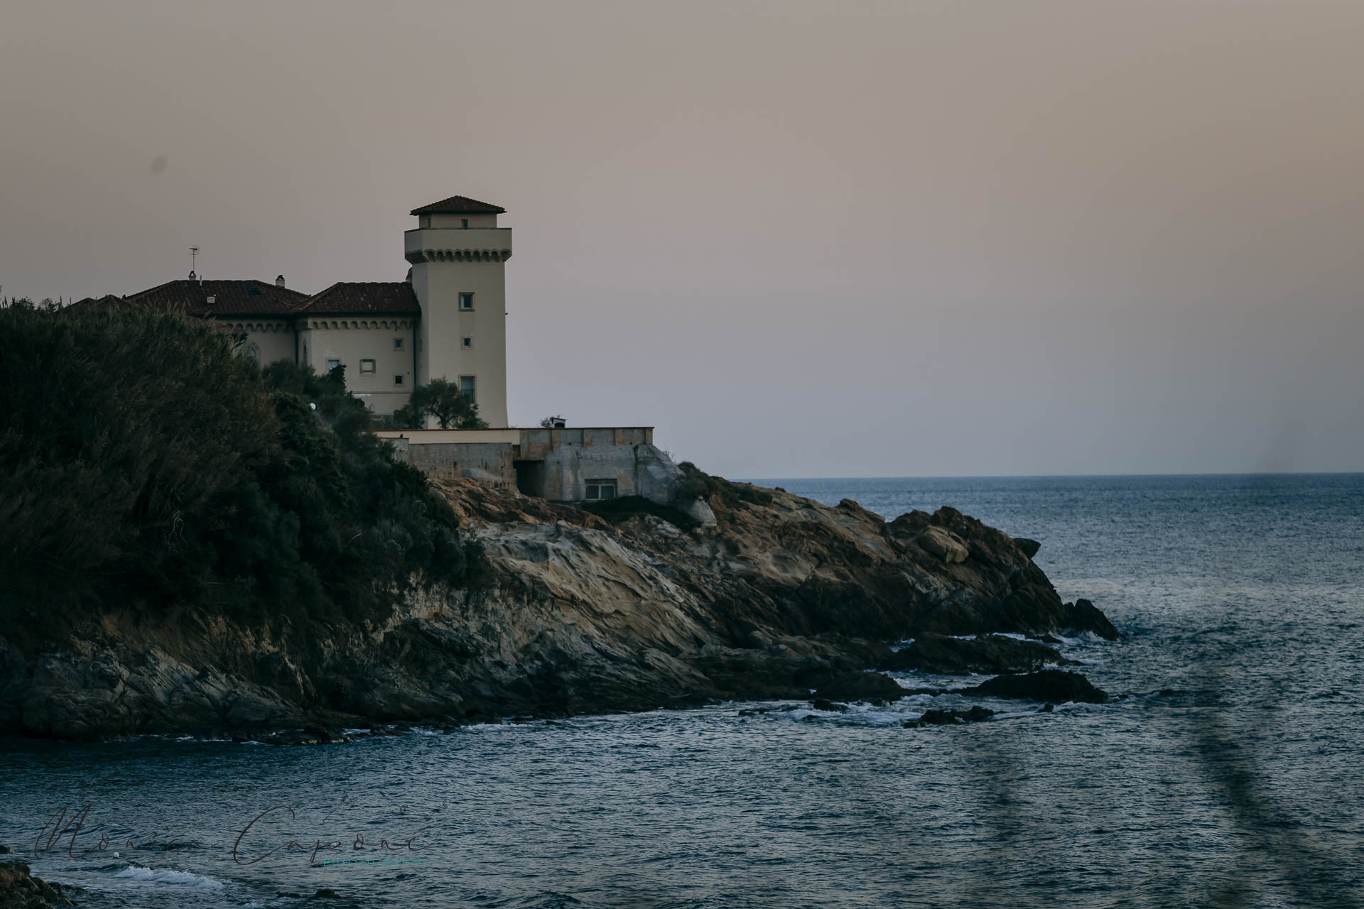
[[[125,297],[75,304],[181,312],[243,338],[262,363],[293,360],[326,373],[345,367],[346,387],[378,414],[408,402],[413,384],[457,382],[490,427],[507,425],[506,209],[450,196],[413,209],[404,237],[406,281],[342,281],[315,294],[265,281],[188,278]]]

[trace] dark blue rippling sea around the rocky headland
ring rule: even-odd
[[[1364,905],[1364,476],[761,482],[1041,540],[1127,635],[1063,651],[1125,696],[8,740],[0,844],[83,906]]]

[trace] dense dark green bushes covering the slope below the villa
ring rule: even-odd
[[[355,620],[465,576],[449,506],[341,371],[261,369],[179,316],[20,301],[0,309],[0,621],[101,604]]]

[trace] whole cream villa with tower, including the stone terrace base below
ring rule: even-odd
[[[190,273],[125,297],[74,307],[150,309],[209,319],[262,363],[292,360],[318,373],[345,367],[346,388],[376,414],[402,407],[416,384],[458,383],[487,429],[379,432],[394,454],[435,477],[468,477],[557,502],[638,495],[671,503],[678,467],[652,427],[533,428],[507,422],[506,209],[450,196],[413,209],[404,234],[406,281],[338,282],[308,294],[265,281]]]

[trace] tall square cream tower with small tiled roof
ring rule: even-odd
[[[512,229],[506,209],[450,196],[413,209],[404,234],[412,292],[421,307],[416,380],[446,379],[479,405],[490,427],[507,425],[506,274]]]

